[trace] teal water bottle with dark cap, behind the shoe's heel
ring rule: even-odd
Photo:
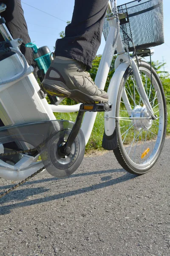
[[[37,45],[33,43],[26,44],[26,47],[34,49],[33,58],[37,63],[38,69],[44,70],[45,74],[51,64],[51,61],[54,60],[54,52],[50,52],[50,49],[47,46],[38,48]]]

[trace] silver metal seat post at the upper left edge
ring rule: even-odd
[[[0,4],[0,13],[4,12],[6,10],[6,5],[4,3]],[[11,41],[13,40],[10,32],[8,31],[6,24],[5,24],[5,19],[0,16],[0,33],[3,36],[5,41]]]

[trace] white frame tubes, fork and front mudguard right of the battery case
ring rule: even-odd
[[[119,85],[122,80],[122,77],[127,67],[129,66],[131,66],[133,69],[133,74],[136,79],[137,87],[141,94],[142,100],[146,105],[147,111],[150,114],[150,116],[152,116],[155,119],[152,107],[145,93],[142,79],[141,79],[138,67],[136,65],[136,62],[134,61],[133,58],[131,58],[129,55],[125,53],[125,49],[122,43],[122,38],[119,33],[119,18],[118,18],[116,0],[114,0],[114,8],[112,8],[112,2],[113,0],[111,1],[111,5],[109,5],[109,8],[108,8],[109,12],[111,12],[112,9],[114,10],[113,15],[110,15],[110,19],[109,19],[110,31],[108,34],[108,38],[105,44],[105,48],[102,54],[102,58],[101,58],[99,68],[96,74],[96,79],[95,79],[95,83],[97,87],[99,87],[99,89],[104,90],[109,69],[111,67],[113,55],[116,49],[118,52],[118,56],[115,61],[115,73],[113,74],[113,77],[108,87],[109,102],[113,104],[113,107],[112,107],[112,111],[105,112],[105,134],[107,136],[111,136],[113,134],[113,131],[115,130],[115,114],[116,114],[115,112],[116,112],[117,94],[118,94]],[[125,90],[123,92],[123,99],[127,107],[127,111],[130,112],[131,106],[128,101]],[[54,112],[76,112],[76,111],[79,111],[79,105],[73,105],[73,106],[52,105],[51,109]],[[85,113],[85,117],[83,119],[81,129],[85,136],[86,144],[88,143],[88,140],[91,136],[91,132],[96,119],[96,114],[97,113],[92,113],[92,112]]]

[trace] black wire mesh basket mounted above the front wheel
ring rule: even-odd
[[[134,51],[133,44],[139,50],[164,43],[163,0],[135,0],[117,8],[119,13],[127,13],[127,18],[120,20],[120,34],[130,52]],[[109,29],[105,18],[105,40]]]

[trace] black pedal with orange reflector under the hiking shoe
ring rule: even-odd
[[[109,104],[109,103],[81,104],[79,110],[89,111],[89,112],[111,111],[112,104]]]

